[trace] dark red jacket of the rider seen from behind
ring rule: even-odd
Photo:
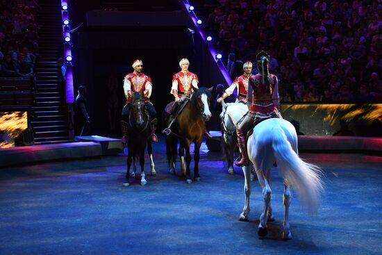
[[[277,81],[277,76],[274,74],[269,74],[270,83],[270,93],[267,92],[267,86],[263,84],[262,76],[256,74],[254,79],[249,80],[249,85],[251,85],[251,115],[256,115],[256,117],[268,117],[270,114],[276,112],[278,113],[276,104],[279,104],[279,82]]]

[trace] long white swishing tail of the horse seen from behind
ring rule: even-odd
[[[317,211],[317,206],[322,195],[322,171],[317,165],[301,160],[292,149],[288,139],[280,126],[275,127],[272,147],[274,156],[281,174],[288,181],[288,185],[297,190],[297,195],[310,213]]]

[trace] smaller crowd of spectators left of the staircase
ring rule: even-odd
[[[0,0],[0,77],[31,77],[38,59],[35,1]]]

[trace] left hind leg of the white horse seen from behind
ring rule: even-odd
[[[263,199],[264,199],[264,208],[263,213],[260,215],[260,223],[258,224],[258,236],[267,236],[267,220],[268,220],[268,210],[269,202],[271,201],[272,190],[269,186],[266,176],[262,170],[256,170],[258,176],[258,182],[260,183],[261,188],[263,189]]]

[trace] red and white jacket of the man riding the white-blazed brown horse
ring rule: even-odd
[[[189,96],[192,92],[192,85],[195,85],[195,81],[196,84],[199,83],[199,79],[196,74],[193,74],[192,72],[188,72],[187,74],[184,74],[183,72],[177,72],[174,74],[174,76],[172,76],[172,94],[176,89],[175,85],[177,83],[178,97],[182,98]]]

